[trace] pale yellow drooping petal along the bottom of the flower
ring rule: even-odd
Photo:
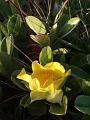
[[[62,96],[63,96],[63,91],[61,89],[55,90],[53,93],[50,91],[46,91],[46,92],[31,91],[30,93],[31,102],[34,102],[36,100],[46,99],[48,102],[61,104]]]

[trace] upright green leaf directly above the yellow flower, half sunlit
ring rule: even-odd
[[[47,46],[42,49],[39,55],[39,61],[42,65],[53,61],[53,53],[51,47]]]

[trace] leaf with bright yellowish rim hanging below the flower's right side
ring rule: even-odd
[[[63,96],[62,104],[51,104],[49,112],[54,115],[65,115],[67,112],[67,97]]]

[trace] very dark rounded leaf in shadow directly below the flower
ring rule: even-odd
[[[47,105],[43,101],[35,101],[31,103],[27,110],[34,116],[42,116],[47,112]]]

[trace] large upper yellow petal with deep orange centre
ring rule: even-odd
[[[63,77],[65,73],[64,67],[58,62],[51,62],[43,67],[37,61],[34,61],[32,63],[32,69],[32,78],[37,78],[41,86],[43,86],[47,80],[54,81]]]

